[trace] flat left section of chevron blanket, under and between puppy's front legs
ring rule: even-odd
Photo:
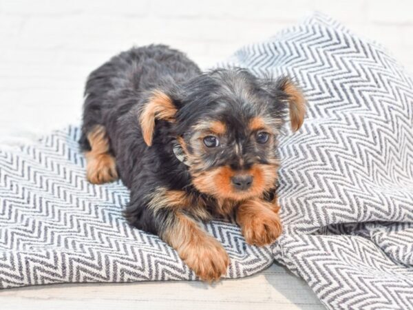
[[[120,182],[87,182],[79,136],[70,127],[36,145],[0,150],[0,287],[194,280],[176,251],[127,225],[122,209],[129,192]],[[270,247],[246,245],[236,225],[205,227],[231,256],[226,277],[273,262]]]

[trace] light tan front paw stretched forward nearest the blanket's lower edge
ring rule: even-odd
[[[229,256],[220,242],[212,237],[187,245],[182,254],[184,262],[201,280],[218,281],[226,274]]]

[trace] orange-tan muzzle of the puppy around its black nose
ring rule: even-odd
[[[272,189],[277,180],[276,165],[255,164],[248,170],[218,167],[192,176],[193,185],[202,193],[235,201],[259,197]]]

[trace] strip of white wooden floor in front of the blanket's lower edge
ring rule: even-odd
[[[324,309],[306,283],[273,265],[243,279],[202,282],[62,284],[0,291],[0,309]]]

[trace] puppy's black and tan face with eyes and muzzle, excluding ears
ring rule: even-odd
[[[229,107],[222,114],[205,115],[178,142],[200,192],[243,200],[274,187],[279,165],[277,134],[276,118],[237,115]]]

